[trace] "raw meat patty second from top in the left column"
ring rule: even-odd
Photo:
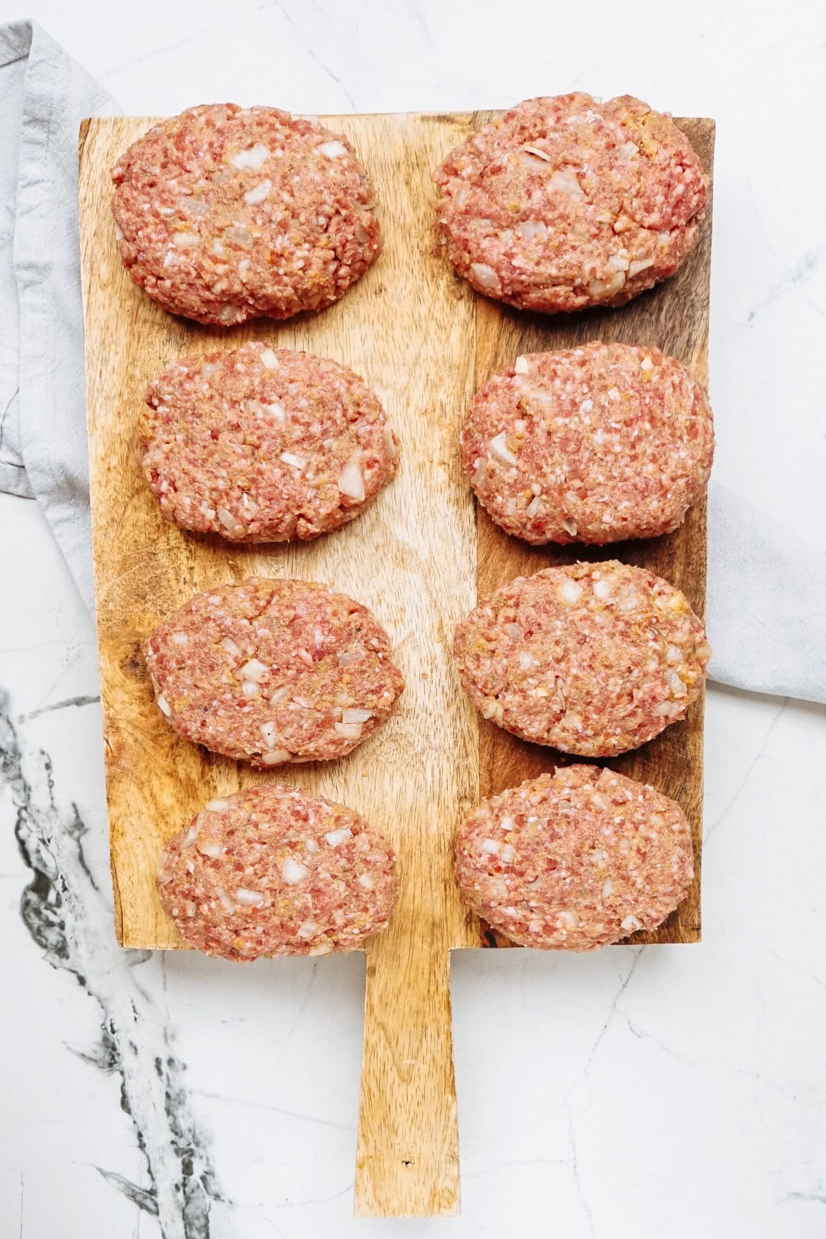
[[[317,538],[396,471],[384,409],[337,362],[266,344],[186,357],[150,383],[142,468],[167,520],[232,541]]]

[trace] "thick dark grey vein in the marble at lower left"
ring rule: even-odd
[[[74,976],[100,1007],[100,1042],[82,1057],[119,1074],[121,1109],[133,1120],[147,1182],[98,1168],[136,1208],[157,1217],[162,1239],[209,1239],[212,1206],[224,1197],[189,1105],[185,1064],[157,1005],[136,983],[131,953],[115,942],[111,909],[83,852],[77,807],[58,804],[48,756],[21,745],[6,693],[0,693],[0,783],[11,792],[15,836],[31,870],[21,896],[24,923],[46,961]]]

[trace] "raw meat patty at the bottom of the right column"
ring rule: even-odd
[[[523,947],[592,950],[655,929],[693,877],[682,809],[598,766],[567,766],[484,800],[461,826],[456,877]]]

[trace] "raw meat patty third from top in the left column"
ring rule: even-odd
[[[343,757],[404,688],[367,607],[308,581],[196,595],[155,629],[146,665],[176,731],[253,766]]]

